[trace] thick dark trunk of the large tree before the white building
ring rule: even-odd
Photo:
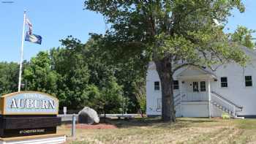
[[[169,58],[155,61],[157,72],[161,81],[162,90],[162,120],[175,122],[175,110],[173,102],[173,75],[172,64]]]

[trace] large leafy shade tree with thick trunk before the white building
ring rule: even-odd
[[[223,29],[241,0],[86,0],[85,8],[110,24],[105,45],[121,58],[151,56],[162,85],[162,119],[176,121],[173,74],[195,65],[245,64],[246,56]]]

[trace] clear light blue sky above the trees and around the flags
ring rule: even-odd
[[[104,33],[105,23],[102,16],[83,10],[83,1],[0,0],[0,61],[18,62],[20,59],[23,10],[27,10],[34,34],[42,36],[42,45],[24,42],[24,58],[27,60],[36,56],[40,50],[60,46],[59,39],[68,35],[86,42],[89,33]],[[246,12],[240,14],[234,11],[234,17],[229,18],[229,31],[233,31],[238,25],[256,29],[256,1],[246,0],[245,4]]]

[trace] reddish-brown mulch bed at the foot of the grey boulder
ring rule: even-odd
[[[72,125],[67,125],[67,128],[71,128]],[[76,129],[117,129],[117,127],[113,124],[76,124]]]

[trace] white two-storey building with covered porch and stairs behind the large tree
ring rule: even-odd
[[[243,48],[251,61],[246,67],[226,64],[212,72],[207,68],[184,67],[173,82],[177,117],[212,117],[228,113],[256,117],[256,53]],[[146,113],[161,115],[162,93],[154,62],[146,77]]]

